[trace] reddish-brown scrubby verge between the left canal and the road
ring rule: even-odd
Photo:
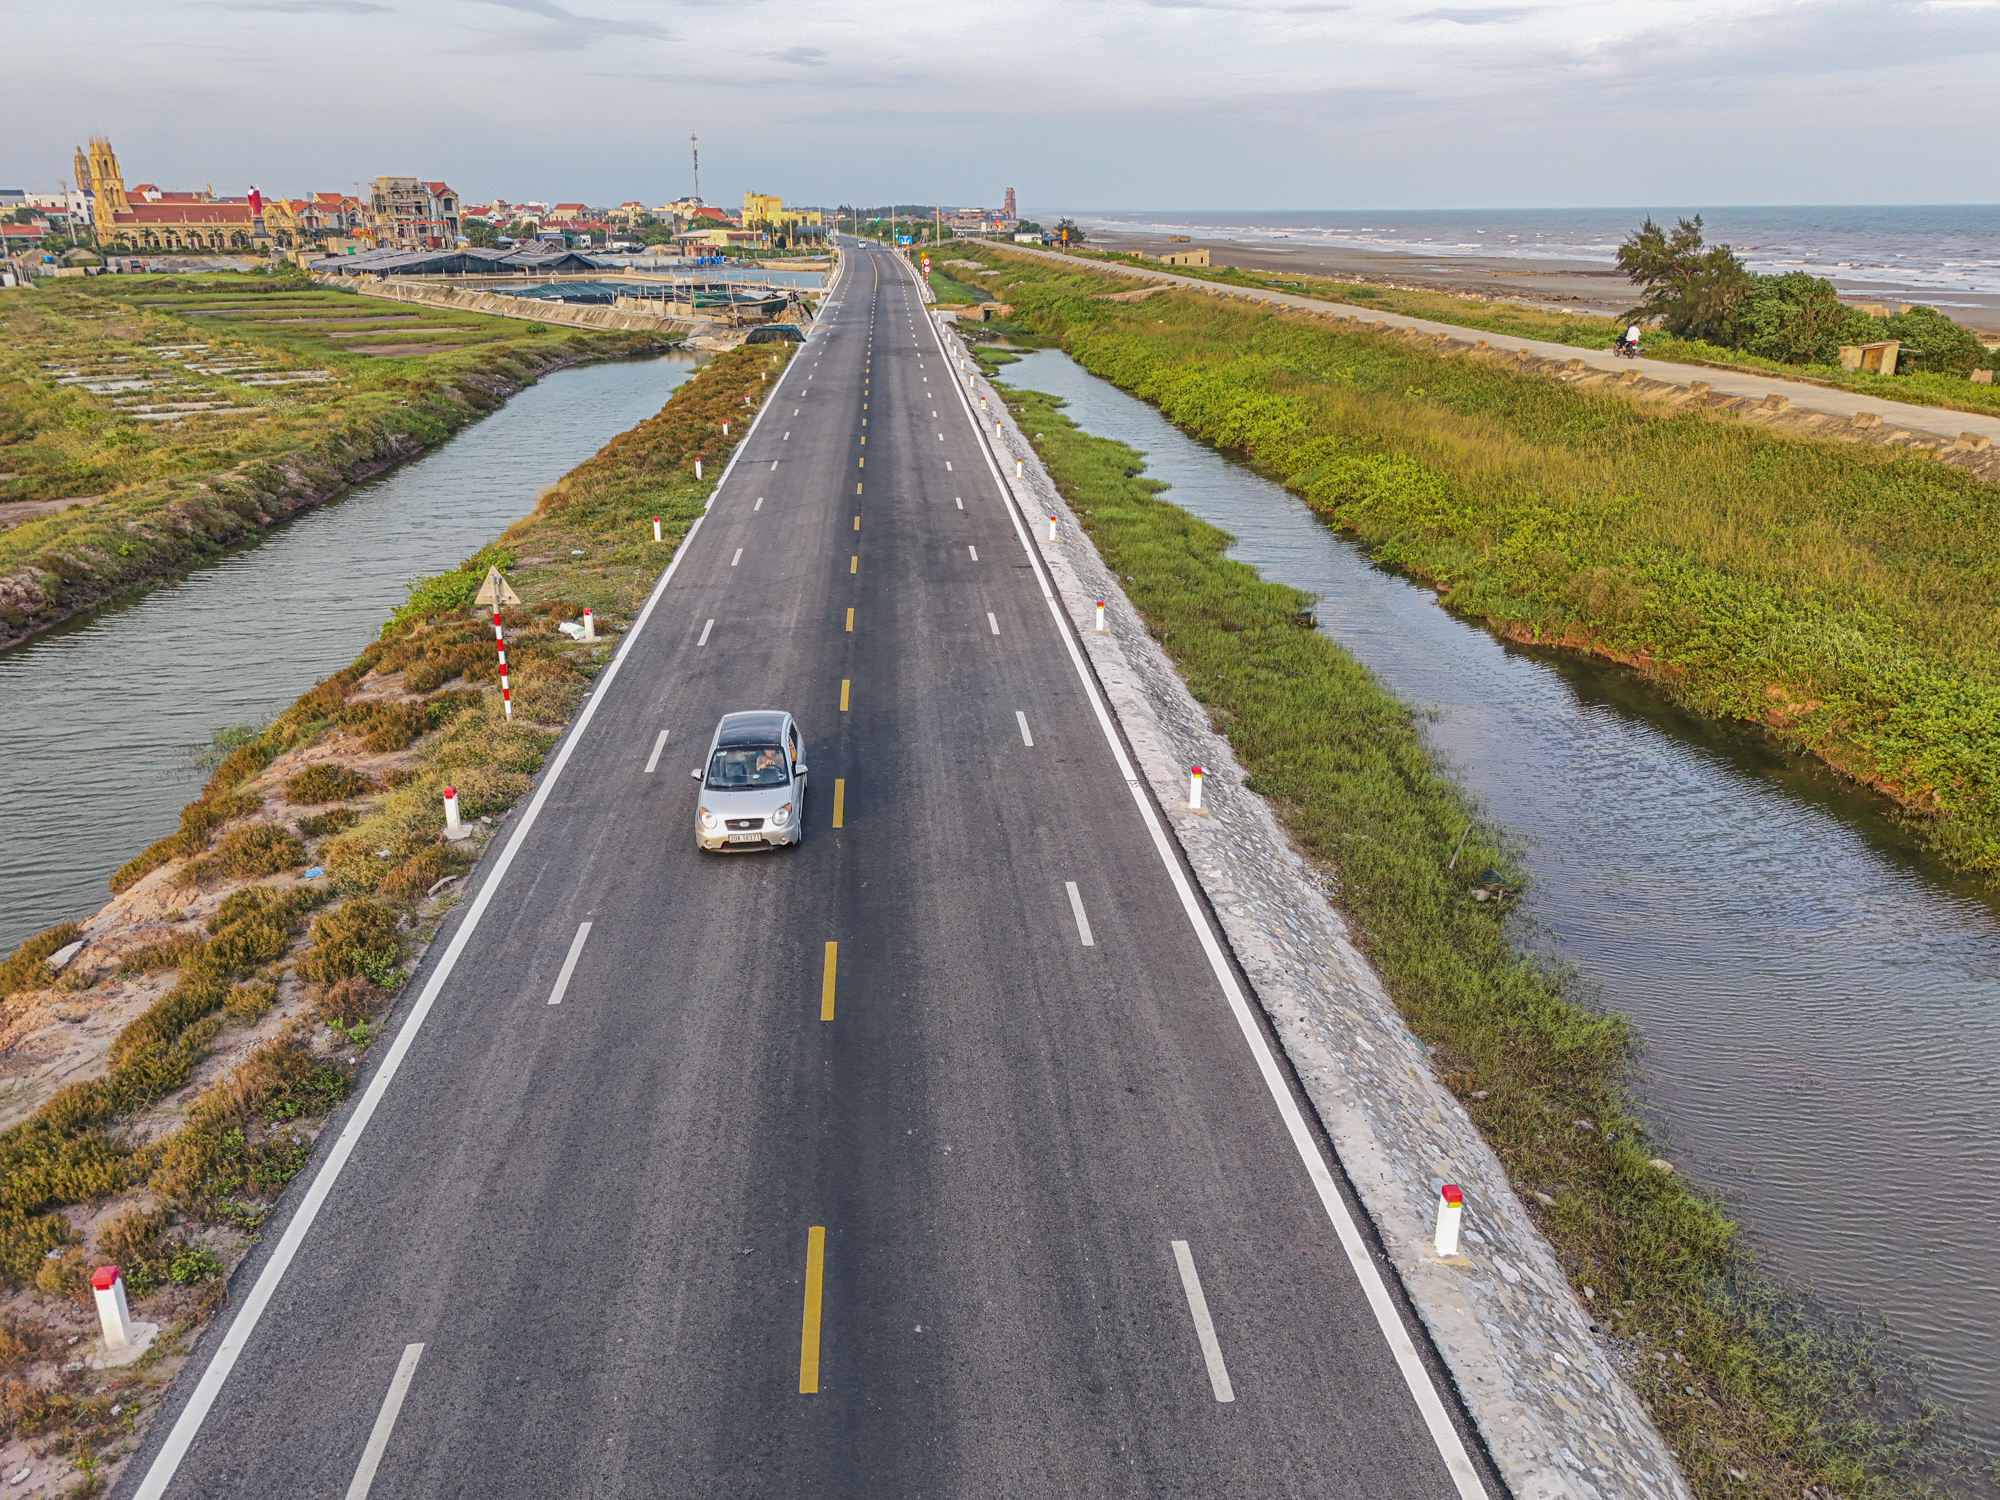
[[[742,440],[744,396],[760,402],[770,390],[760,376],[778,374],[772,356],[756,346],[712,360],[500,542],[420,580],[378,640],[230,754],[180,830],[112,876],[112,890],[148,878],[186,890],[190,906],[214,908],[206,924],[180,922],[124,952],[94,942],[62,980],[42,960],[78,936],[74,924],[0,962],[0,1026],[50,988],[90,1004],[94,988],[120,978],[174,974],[172,990],[112,1042],[102,1076],[62,1088],[0,1134],[0,1278],[42,1298],[30,1318],[0,1318],[0,1442],[42,1440],[86,1476],[122,1452],[134,1414],[152,1406],[160,1362],[220,1302],[218,1278],[246,1248],[240,1234],[254,1232],[346,1096],[352,1060],[408,976],[408,938],[428,936],[450,906],[436,890],[472,856],[442,838],[442,788],[458,788],[468,818],[530,790],[612,650],[572,642],[554,620],[588,604],[610,634],[630,624]],[[694,478],[696,458],[708,460],[706,480]],[[660,544],[652,516],[664,522]],[[488,562],[510,568],[524,598],[504,616],[512,722],[500,714],[492,628],[466,612]],[[384,756],[392,768],[356,770]],[[308,862],[324,878],[298,880]],[[192,1100],[174,1098],[204,1056],[248,1028],[270,1032],[288,1002],[284,1024],[246,1062]],[[160,1132],[164,1104],[180,1108],[180,1122]],[[122,1212],[80,1232],[106,1208]],[[22,1378],[70,1358],[44,1334],[42,1308],[88,1316],[78,1312],[90,1306],[84,1278],[102,1260],[124,1268],[136,1316],[174,1324],[160,1352],[110,1376],[44,1368]]]

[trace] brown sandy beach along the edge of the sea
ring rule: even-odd
[[[1164,234],[1144,234],[1120,228],[1092,228],[1090,244],[1098,250],[1138,250],[1160,256],[1168,250],[1186,250],[1188,244],[1170,244]],[[1596,312],[1618,316],[1638,300],[1634,288],[1610,266],[1590,260],[1516,260],[1506,256],[1422,256],[1394,250],[1344,250],[1310,244],[1282,244],[1262,240],[1222,240],[1196,236],[1190,244],[1206,246],[1216,266],[1238,266],[1278,276],[1296,272],[1300,276],[1332,276],[1336,280],[1362,282],[1370,286],[1402,286],[1424,292],[1454,292],[1460,296],[1486,296],[1506,302],[1524,302],[1550,312]],[[1908,292],[1868,286],[1856,282],[1846,286],[1836,282],[1842,300],[1854,304],[1888,306],[1896,310],[1914,300]],[[1970,302],[1970,306],[1968,306]],[[2000,296],[1958,294],[1948,316],[1966,328],[1982,334],[2000,334]]]

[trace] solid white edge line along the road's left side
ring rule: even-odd
[[[786,366],[786,374],[790,374],[790,370],[792,366]],[[784,374],[778,376],[772,396],[776,396],[782,386]],[[716,494],[722,494],[722,486],[730,482],[730,474],[736,470],[736,458],[750,446],[750,438],[756,434],[756,424],[764,420],[764,412],[768,410],[770,402],[764,402],[764,406],[758,406],[756,416],[750,418],[750,426],[744,430],[744,440],[736,444],[736,452],[730,454],[730,462],[722,466],[722,476],[716,480]],[[542,774],[542,782],[534,788],[534,796],[528,800],[528,810],[520,814],[520,822],[514,826],[514,836],[508,840],[506,848],[500,850],[500,858],[494,862],[492,874],[486,876],[486,882],[480,886],[480,894],[472,898],[472,906],[466,908],[464,922],[458,924],[458,930],[444,948],[444,956],[438,960],[438,968],[430,974],[430,982],[424,984],[422,994],[416,996],[416,1004],[410,1006],[410,1014],[396,1030],[396,1040],[392,1040],[388,1044],[388,1052],[382,1054],[376,1076],[368,1082],[368,1088],[354,1106],[354,1114],[348,1116],[346,1126],[342,1126],[340,1138],[326,1154],[320,1170],[312,1174],[312,1186],[306,1188],[306,1196],[298,1200],[298,1210],[284,1226],[284,1236],[270,1252],[270,1260],[264,1262],[264,1270],[258,1272],[258,1278],[250,1286],[248,1296],[244,1296],[238,1314],[230,1320],[230,1328],[222,1336],[222,1342],[216,1344],[214,1354],[208,1358],[208,1368],[202,1370],[202,1378],[188,1396],[188,1404],[182,1406],[180,1416],[174,1418],[172,1432],[166,1434],[166,1440],[160,1444],[160,1452],[154,1454],[152,1466],[146,1470],[146,1478],[140,1480],[140,1486],[132,1492],[132,1500],[162,1500],[166,1486],[174,1482],[174,1474],[180,1470],[180,1460],[186,1458],[188,1448],[194,1446],[194,1436],[202,1430],[202,1422],[208,1420],[208,1412],[214,1408],[224,1382],[230,1378],[230,1370],[236,1368],[236,1360],[242,1356],[244,1346],[256,1332],[258,1320],[264,1316],[264,1308],[268,1308],[272,1296],[278,1294],[278,1284],[284,1280],[286,1270],[290,1270],[292,1260],[298,1258],[298,1250],[312,1232],[312,1224],[320,1216],[320,1208],[332,1194],[334,1182],[340,1180],[340,1170],[348,1164],[348,1158],[360,1144],[362,1132],[380,1108],[382,1096],[388,1094],[388,1086],[402,1070],[402,1060],[410,1054],[410,1048],[416,1046],[416,1036],[424,1028],[424,1020],[430,1016],[430,1008],[444,992],[446,982],[452,978],[452,970],[458,968],[458,958],[464,954],[466,944],[472,942],[472,934],[478,930],[480,918],[486,914],[494,894],[500,890],[502,878],[508,868],[512,868],[522,846],[528,842],[528,832],[534,828],[536,818],[542,816],[542,808],[548,804],[550,792],[556,790],[556,782],[562,780],[562,768],[570,764],[570,756],[582,742],[584,730],[590,728],[590,720],[596,718],[598,704],[604,702],[612,684],[618,680],[618,670],[632,652],[632,642],[636,642],[646,630],[646,622],[652,620],[652,612],[666,596],[666,586],[672,584],[674,574],[680,572],[680,562],[688,556],[694,534],[702,530],[704,520],[708,520],[706,510],[694,518],[694,524],[680,538],[680,546],[674,548],[674,560],[666,564],[666,572],[660,574],[660,582],[652,586],[652,594],[646,598],[646,608],[638,612],[638,620],[632,622],[624,640],[618,642],[618,650],[612,654],[612,664],[604,668],[604,676],[598,678],[596,690],[584,700],[582,710],[576,714],[576,726],[556,748],[556,758]]]

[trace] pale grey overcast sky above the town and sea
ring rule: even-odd
[[[6,8],[0,186],[1056,208],[2000,202],[2000,0]]]

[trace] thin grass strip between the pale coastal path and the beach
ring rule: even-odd
[[[1106,250],[1072,250],[1070,254],[1102,260],[1118,266],[1146,262],[1132,256],[1116,256]],[[1354,308],[1376,312],[1398,312],[1406,318],[1430,318],[1454,328],[1478,328],[1488,334],[1508,338],[1534,338],[1572,348],[1610,348],[1626,328],[1624,318],[1602,318],[1588,312],[1546,312],[1516,302],[1486,300],[1476,296],[1456,296],[1452,292],[1426,292],[1410,286],[1380,286],[1374,282],[1346,280],[1338,276],[1278,276],[1276,272],[1240,270],[1236,266],[1162,266],[1174,276],[1212,282],[1216,286],[1256,288],[1266,292],[1296,292],[1300,296],[1320,296],[1328,302],[1346,302]],[[1638,302],[1638,290],[1632,290]],[[1786,380],[1810,380],[1836,390],[1852,390],[1858,396],[1874,396],[1886,402],[1910,402],[1912,406],[1940,406],[1954,412],[1980,412],[2000,416],[2000,386],[1974,384],[1964,376],[1948,374],[1900,374],[1880,376],[1860,370],[1842,370],[1838,364],[1778,364],[1760,360],[1734,348],[1718,348],[1698,340],[1672,338],[1664,332],[1648,332],[1640,340],[1648,358],[1670,360],[1674,364],[1698,364],[1716,370],[1750,370]]]

